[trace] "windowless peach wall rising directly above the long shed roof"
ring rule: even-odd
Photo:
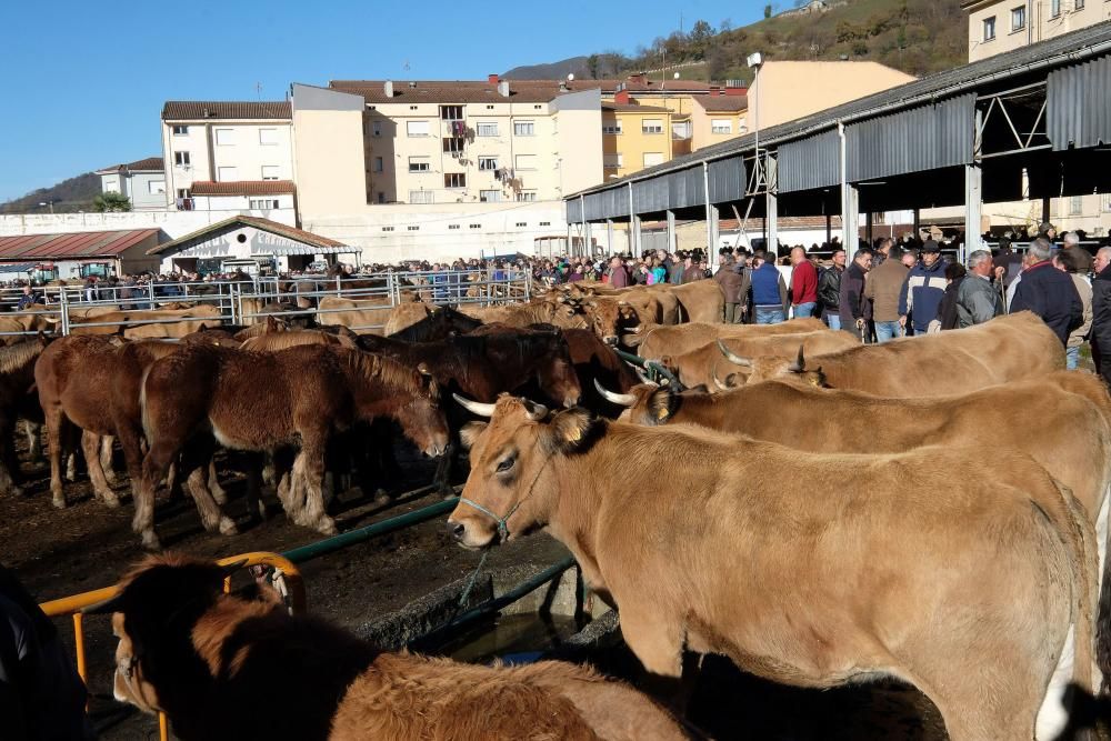
[[[913,80],[877,62],[765,62],[748,92],[749,130],[768,129]]]

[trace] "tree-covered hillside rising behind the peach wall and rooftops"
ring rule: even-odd
[[[608,77],[657,70],[661,78],[672,66],[691,80],[751,79],[744,63],[753,51],[768,60],[870,60],[915,77],[952,69],[968,61],[968,20],[958,0],[824,0],[825,10],[797,9],[772,14],[751,26],[718,28],[700,20],[685,33],[658,37],[631,56],[605,52],[573,57],[550,64],[518,67],[507,78],[542,77],[532,71],[552,69],[575,76]],[[812,3],[818,6],[820,2]],[[663,60],[667,59],[667,69]],[[583,60],[583,61],[580,61]],[[692,62],[695,62],[692,64]],[[578,68],[578,69],[572,69]],[[529,74],[522,71],[530,72]],[[551,77],[563,77],[553,74]]]

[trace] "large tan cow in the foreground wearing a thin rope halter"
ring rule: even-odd
[[[547,528],[654,674],[679,677],[685,648],[800,687],[897,677],[953,741],[1032,738],[1070,630],[1073,679],[1092,684],[1094,544],[1028,455],[813,454],[510,397],[477,407],[492,419],[464,431],[449,530],[481,549]],[[664,482],[640,461],[682,464]]]

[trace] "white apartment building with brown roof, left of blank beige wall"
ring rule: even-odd
[[[286,183],[281,194],[291,198],[292,140],[288,100],[168,101],[162,107],[162,152],[169,208],[196,208],[197,189],[207,199],[217,190],[242,198],[253,188],[248,183],[260,182]]]

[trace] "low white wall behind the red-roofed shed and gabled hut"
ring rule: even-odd
[[[161,229],[170,239],[236,216],[264,217],[296,226],[293,212],[261,211],[127,211],[121,213],[16,213],[0,214],[0,237],[64,234],[77,231]]]

